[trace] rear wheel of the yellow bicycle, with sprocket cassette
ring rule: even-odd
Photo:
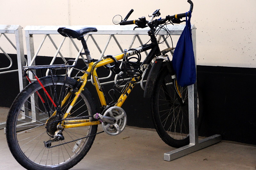
[[[67,77],[64,87],[63,76],[53,76],[54,86],[51,77],[40,80],[49,95],[57,102],[60,101],[62,89],[66,96],[76,84],[74,79]],[[39,98],[38,93],[45,103]],[[72,93],[61,107],[62,113],[68,110],[74,96]],[[92,116],[96,113],[95,106],[91,93],[84,89],[68,118]],[[53,139],[50,135],[54,135],[58,124],[58,117],[49,119],[54,111],[55,107],[37,81],[29,84],[14,100],[7,117],[6,138],[12,155],[23,167],[36,170],[69,169],[84,158],[91,148],[97,133],[97,125],[64,129],[64,140],[52,142],[51,146],[55,147],[45,147],[44,142]],[[92,121],[93,118],[89,119]]]

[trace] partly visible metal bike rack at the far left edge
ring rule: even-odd
[[[15,46],[15,43],[12,43],[10,38],[7,36],[8,34],[15,35],[16,46]],[[26,62],[26,59],[24,57],[22,27],[20,25],[0,25],[0,38],[2,39],[4,37],[12,45],[12,47],[17,51],[18,69],[17,70],[8,70],[9,68],[11,68],[11,66],[13,64],[12,59],[4,51],[4,49],[2,47],[0,47],[0,51],[2,51],[4,53],[4,55],[10,61],[10,65],[8,67],[0,68],[0,74],[18,72],[19,73],[19,86],[20,86],[20,91],[21,91],[26,83],[26,80],[22,79],[22,67],[25,66],[25,62]],[[1,39],[0,39],[0,41],[1,41]],[[3,71],[3,70],[7,70],[7,71]],[[0,129],[2,129],[4,127],[5,127],[5,122],[0,123]]]

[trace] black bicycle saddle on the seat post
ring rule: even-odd
[[[97,28],[95,27],[79,27],[79,28],[68,28],[68,27],[60,27],[58,28],[58,32],[64,37],[71,38],[79,38],[83,37],[85,34],[89,32],[97,32]]]

